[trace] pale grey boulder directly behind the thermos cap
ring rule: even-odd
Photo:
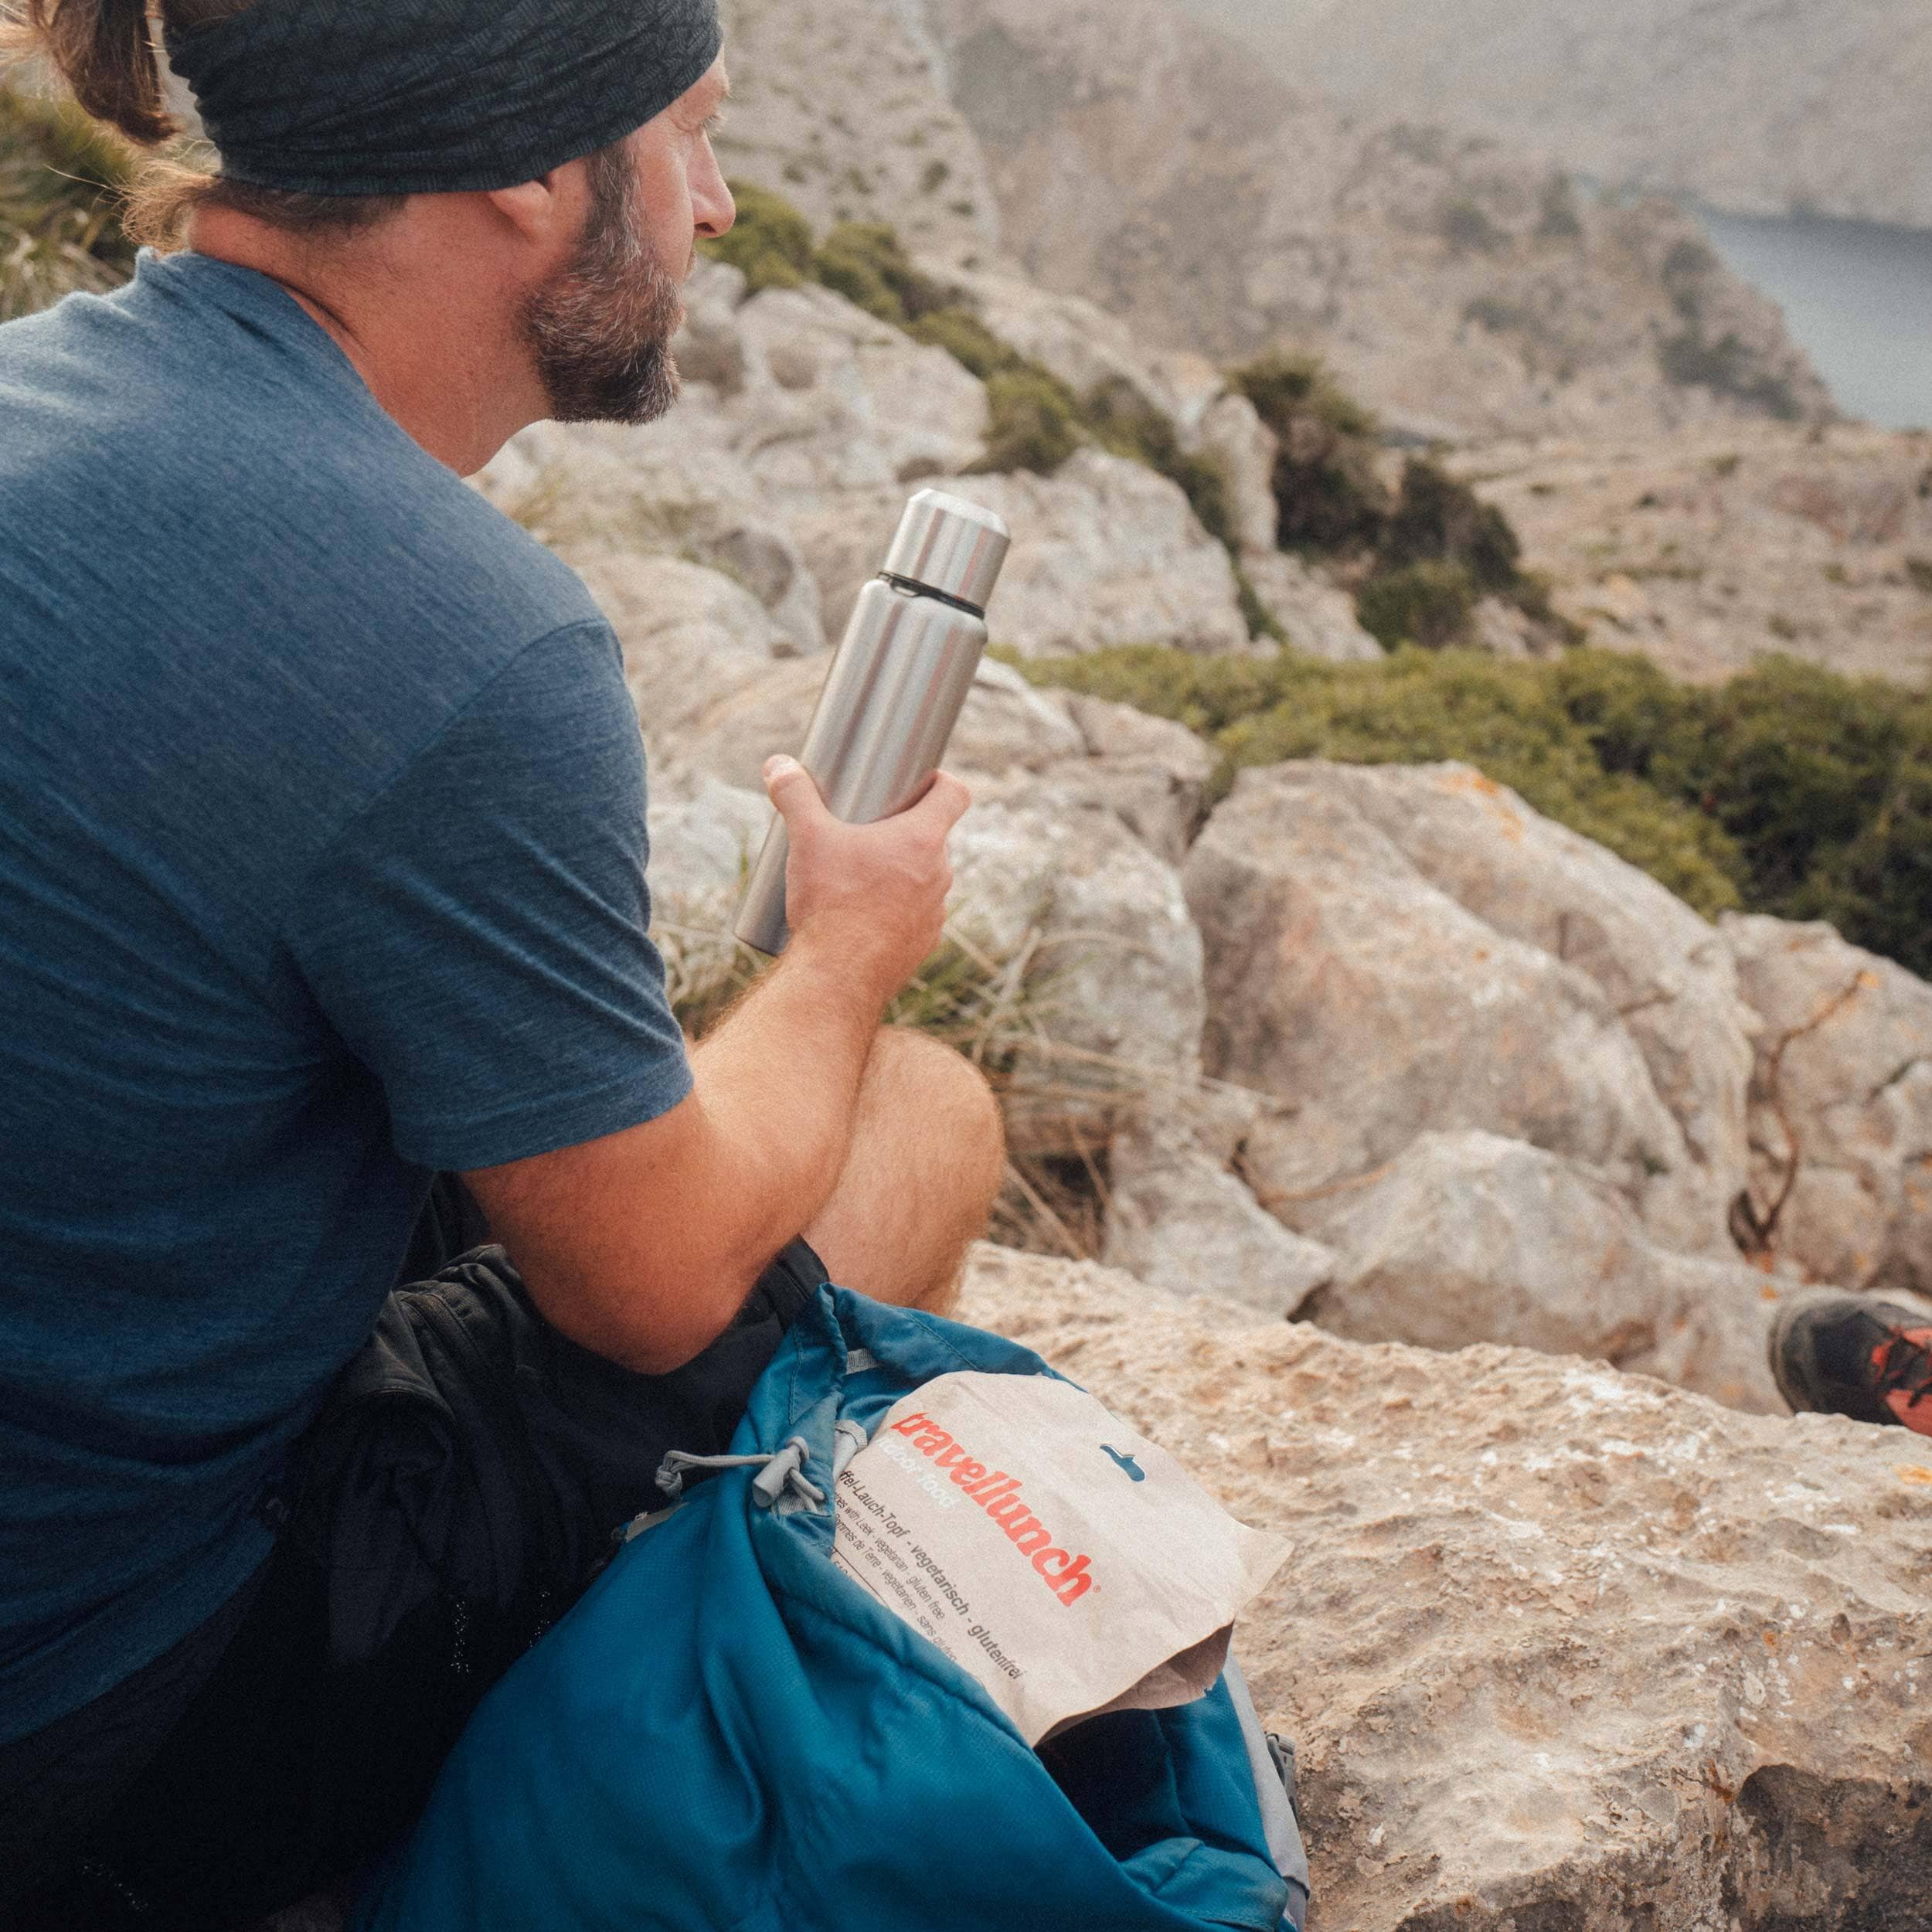
[[[1117,643],[1252,649],[1227,551],[1200,527],[1180,489],[1146,466],[1080,450],[1051,477],[935,483],[995,510],[1012,531],[989,611],[997,643],[1026,657]],[[902,504],[904,493],[893,491],[794,518],[833,630],[879,568]]]

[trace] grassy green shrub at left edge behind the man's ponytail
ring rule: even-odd
[[[133,269],[120,191],[135,155],[70,100],[0,85],[0,323]]]

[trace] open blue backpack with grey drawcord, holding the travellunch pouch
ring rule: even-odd
[[[825,1289],[730,1466],[483,1700],[354,1932],[1300,1932],[1308,1866],[1233,1665],[1036,1752],[833,1567],[835,1470],[954,1370],[1053,1374]]]

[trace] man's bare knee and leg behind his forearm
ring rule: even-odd
[[[951,1047],[885,1028],[866,1063],[852,1151],[806,1229],[831,1279],[945,1314],[1007,1169],[999,1101]]]

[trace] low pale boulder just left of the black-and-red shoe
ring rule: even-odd
[[[1623,1194],[1540,1148],[1422,1134],[1304,1219],[1347,1258],[1302,1308],[1337,1335],[1600,1356],[1785,1414],[1764,1358],[1770,1281],[1660,1248]]]

